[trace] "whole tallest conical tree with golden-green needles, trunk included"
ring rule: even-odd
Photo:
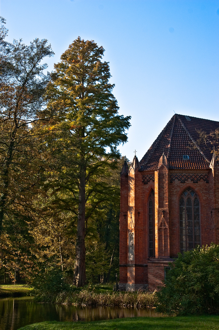
[[[113,194],[107,180],[100,178],[107,167],[116,163],[117,146],[127,141],[125,130],[130,126],[129,116],[118,115],[112,94],[114,85],[109,83],[109,63],[101,61],[103,53],[103,47],[94,41],[78,37],[55,65],[47,91],[47,110],[62,114],[50,127],[56,132],[49,142],[53,155],[56,161],[64,160],[56,183],[61,190],[71,192],[71,203],[75,203],[77,210],[74,270],[77,286],[86,281],[87,219],[104,198]]]

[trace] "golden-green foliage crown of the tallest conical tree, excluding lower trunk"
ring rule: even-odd
[[[125,130],[130,126],[130,117],[118,115],[109,63],[101,61],[103,53],[103,47],[79,37],[61,55],[47,87],[44,111],[45,116],[57,117],[41,128],[51,132],[46,140],[47,185],[53,189],[56,206],[70,209],[76,223],[82,203],[79,187],[85,176],[86,234],[87,221],[96,218],[103,204],[119,199],[110,170],[117,168],[116,147],[127,141]]]

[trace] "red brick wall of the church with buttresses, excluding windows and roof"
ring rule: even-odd
[[[172,173],[207,174],[209,183],[202,179],[170,183]],[[155,182],[142,183],[142,175],[154,174]],[[219,167],[209,170],[167,170],[162,165],[155,172],[139,172],[131,168],[129,176],[121,177],[120,214],[120,282],[149,283],[150,289],[162,284],[165,262],[148,259],[148,197],[155,191],[155,250],[156,258],[177,257],[180,251],[179,199],[187,187],[196,191],[200,200],[201,245],[219,243]],[[212,211],[212,214],[211,212]],[[128,214],[128,220],[124,215]],[[134,231],[134,260],[128,260],[128,230]],[[147,265],[142,267],[140,264]],[[137,266],[139,265],[139,266]]]

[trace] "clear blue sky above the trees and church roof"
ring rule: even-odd
[[[48,39],[49,71],[78,36],[104,47],[130,160],[174,111],[219,121],[219,0],[0,0],[0,16],[8,41]]]

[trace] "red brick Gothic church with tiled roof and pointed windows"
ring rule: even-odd
[[[155,290],[179,252],[219,244],[218,121],[174,115],[139,162],[121,171],[120,290]],[[212,141],[211,141],[212,142]]]

